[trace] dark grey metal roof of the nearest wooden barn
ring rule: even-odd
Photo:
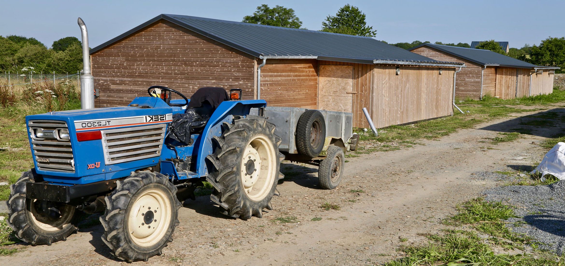
[[[403,62],[403,65],[462,65],[454,62],[436,61],[385,44],[371,37],[168,14],[158,15],[93,48],[90,50],[90,54],[94,54],[160,19],[180,25],[257,58],[293,57],[367,64],[390,61]]]

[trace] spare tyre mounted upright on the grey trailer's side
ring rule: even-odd
[[[302,155],[318,157],[324,148],[325,121],[318,110],[306,110],[296,125],[296,148]]]

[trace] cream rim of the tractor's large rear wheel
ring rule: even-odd
[[[245,194],[251,200],[264,199],[276,177],[276,155],[267,136],[255,136],[245,147],[241,157],[240,177]]]

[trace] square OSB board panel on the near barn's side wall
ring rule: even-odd
[[[318,107],[330,111],[353,109],[353,66],[321,65]]]

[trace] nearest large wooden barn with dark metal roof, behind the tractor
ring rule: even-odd
[[[201,87],[241,88],[270,106],[350,111],[354,127],[453,114],[454,72],[370,37],[159,15],[90,50],[95,106],[127,105],[147,87],[187,96]]]

